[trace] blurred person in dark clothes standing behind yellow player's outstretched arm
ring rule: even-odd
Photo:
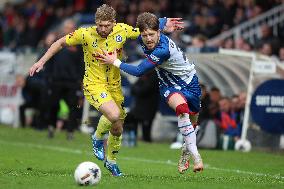
[[[62,26],[62,34],[67,35],[75,30],[75,23],[66,20]],[[81,82],[83,77],[83,55],[78,47],[65,47],[58,52],[50,63],[51,71],[49,75],[48,97],[50,108],[49,112],[49,137],[54,135],[59,111],[59,102],[64,100],[69,107],[69,116],[65,122],[67,139],[73,138],[73,132],[78,126],[77,106],[81,96]]]

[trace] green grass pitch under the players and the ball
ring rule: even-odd
[[[52,140],[46,136],[46,131],[0,126],[1,189],[82,188],[73,173],[83,161],[93,161],[102,170],[95,188],[284,188],[283,153],[200,150],[205,170],[194,174],[191,167],[181,175],[176,166],[179,150],[170,150],[167,143],[139,142],[136,148],[122,147],[118,164],[125,176],[115,178],[92,155],[88,135],[77,132],[73,141],[67,141],[65,133]]]

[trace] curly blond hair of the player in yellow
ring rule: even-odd
[[[113,21],[115,22],[116,18],[116,11],[114,8],[107,4],[103,4],[99,8],[97,8],[95,19],[96,21]]]

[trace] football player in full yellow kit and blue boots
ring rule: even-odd
[[[109,54],[116,51],[118,58],[121,59],[126,40],[136,39],[140,32],[139,29],[127,24],[116,23],[116,11],[106,4],[97,9],[95,18],[95,26],[79,28],[54,42],[30,68],[30,76],[39,72],[44,64],[64,46],[82,45],[85,61],[84,95],[88,102],[103,114],[92,136],[94,155],[99,160],[105,159],[103,139],[104,135],[109,133],[105,167],[113,176],[122,176],[116,164],[116,156],[121,147],[123,121],[126,116],[123,108],[120,70],[113,65],[101,64],[98,54],[102,53],[102,50]],[[180,18],[163,18],[160,19],[160,28],[163,31],[172,32],[182,29],[183,22]]]

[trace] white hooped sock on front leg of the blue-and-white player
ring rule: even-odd
[[[194,156],[197,156],[199,153],[196,146],[196,134],[188,114],[183,114],[178,117],[178,128],[183,136],[186,149]]]

